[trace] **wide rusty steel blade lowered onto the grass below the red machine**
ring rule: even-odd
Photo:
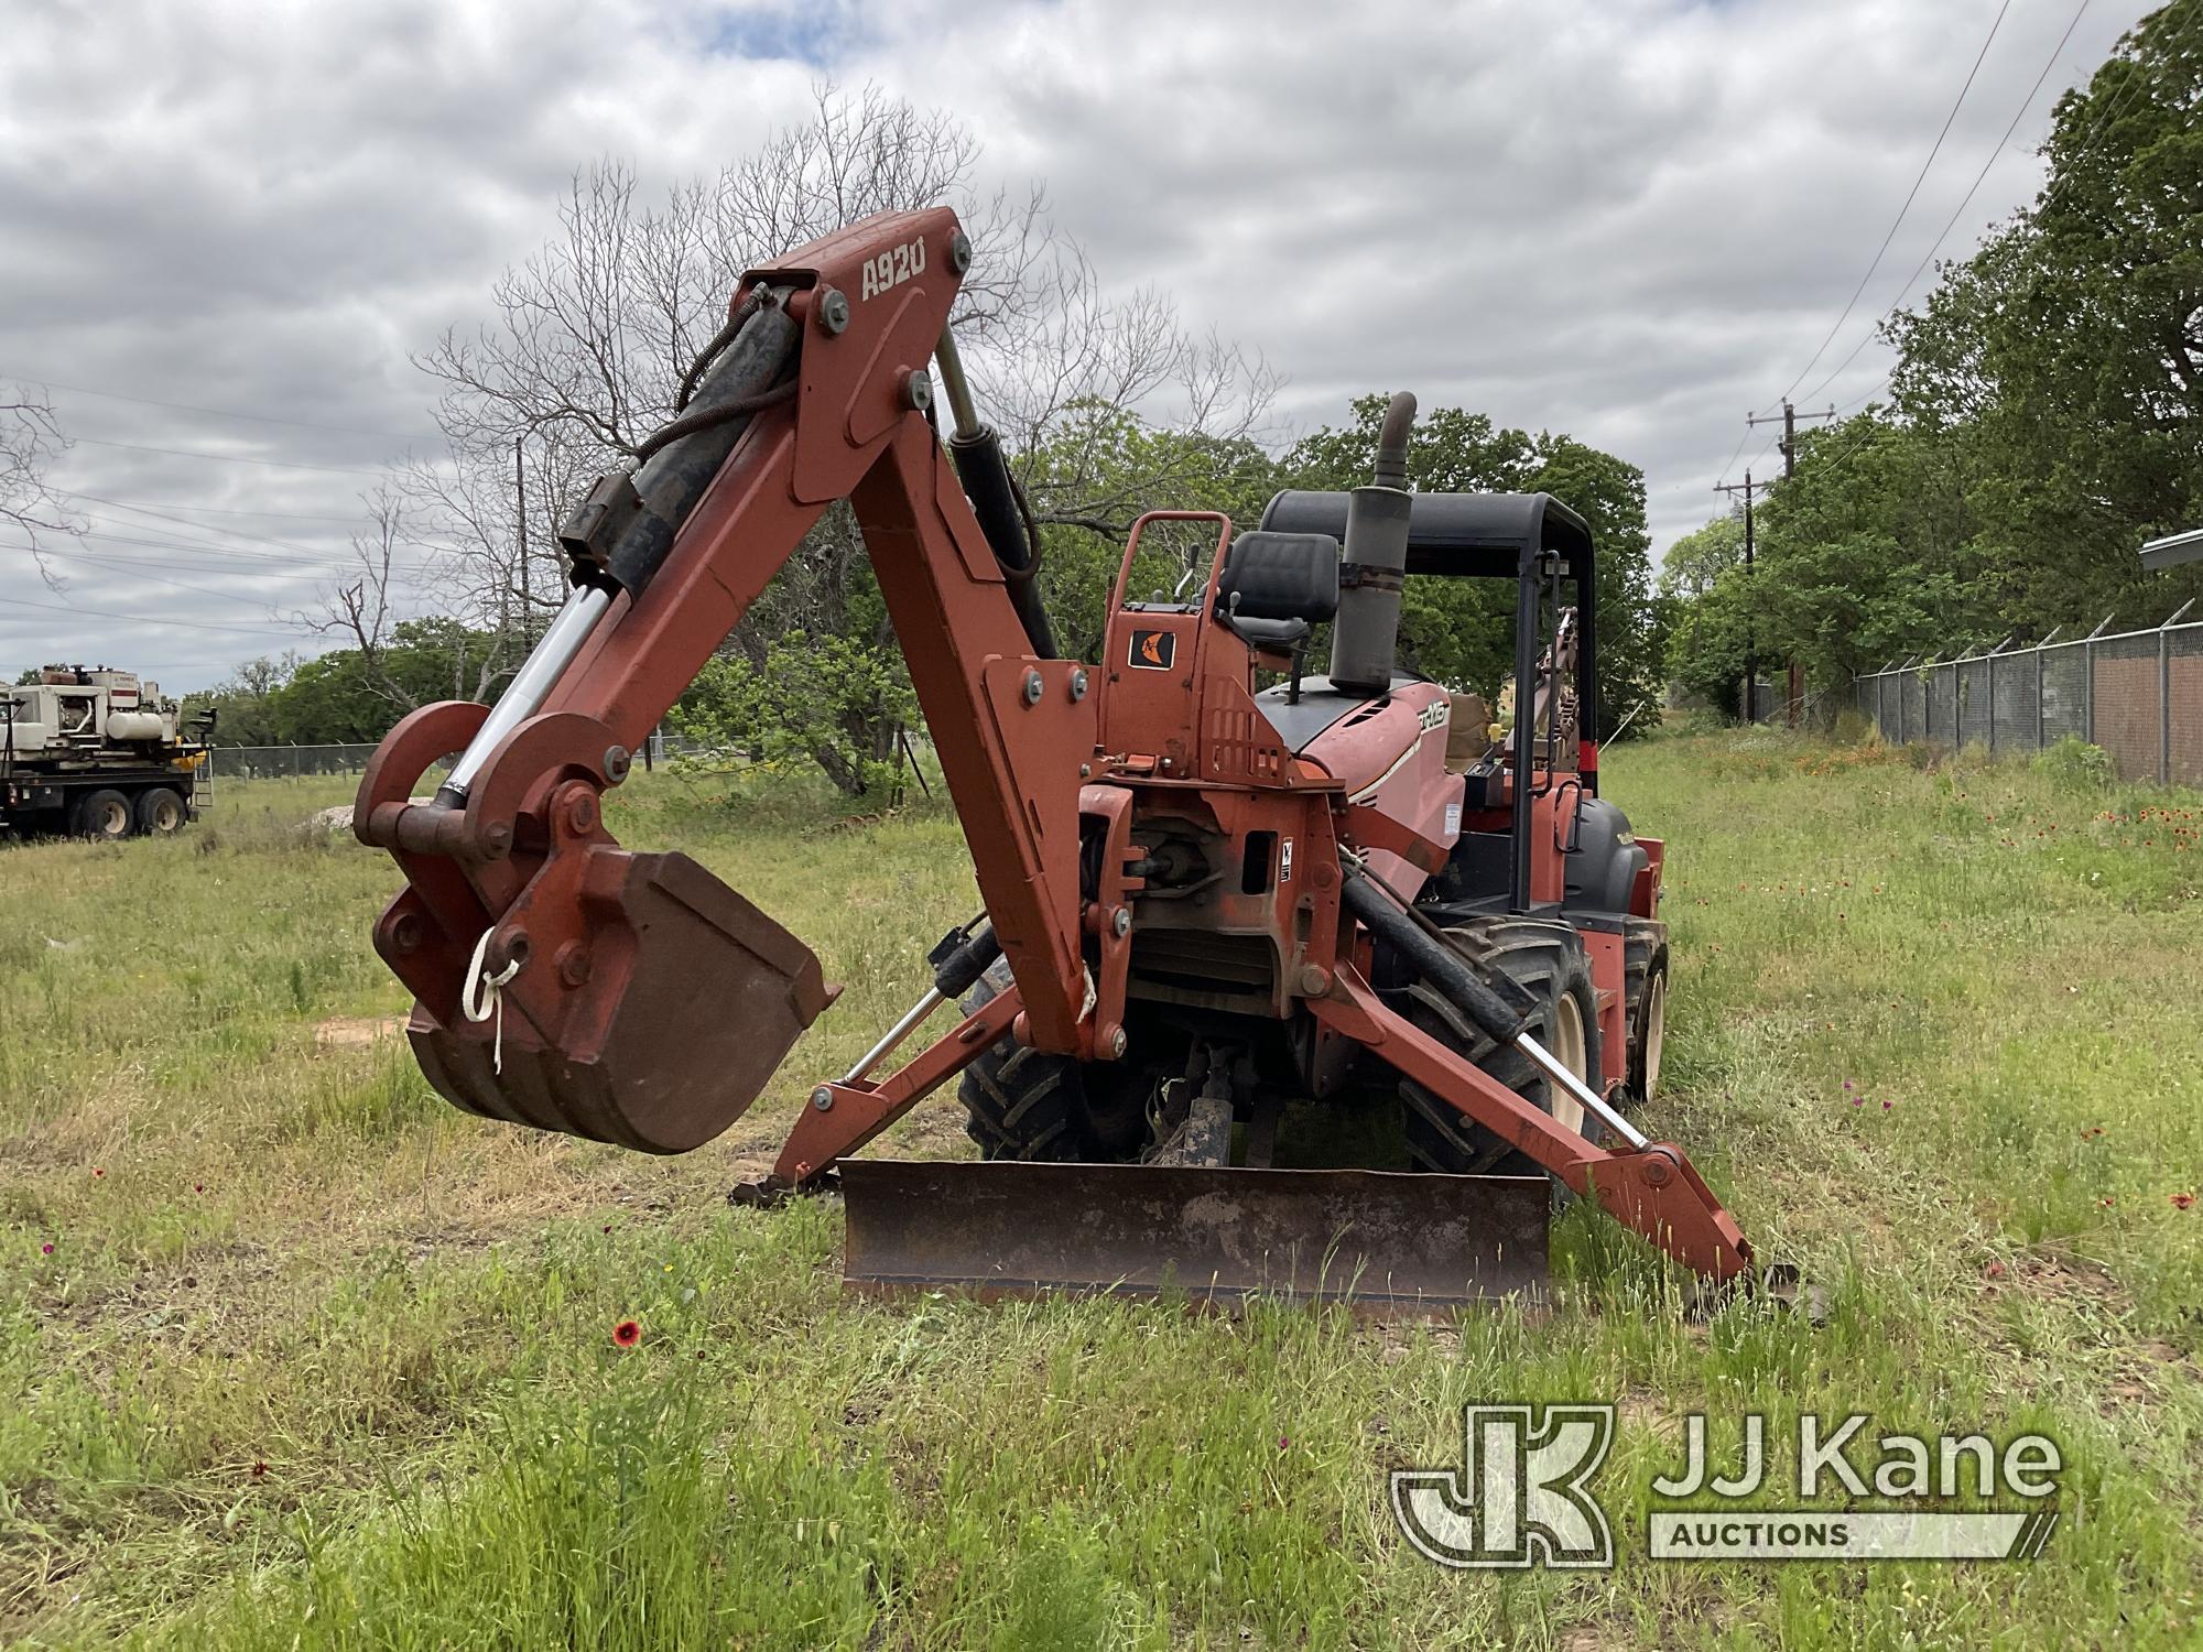
[[[846,1159],[844,1284],[1271,1295],[1388,1315],[1535,1293],[1544,1176]]]

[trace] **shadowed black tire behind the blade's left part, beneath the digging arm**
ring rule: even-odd
[[[1007,985],[1009,960],[996,958],[965,998],[965,1013]],[[1102,1070],[1005,1037],[965,1068],[956,1097],[983,1159],[1128,1163],[1148,1139],[1139,1079],[1117,1062]]]

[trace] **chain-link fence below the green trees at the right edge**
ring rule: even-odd
[[[1853,696],[1884,740],[2040,751],[2073,736],[2121,780],[2203,784],[2203,621],[1908,661]]]

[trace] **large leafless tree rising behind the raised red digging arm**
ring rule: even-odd
[[[820,84],[802,121],[659,200],[641,198],[626,163],[577,172],[557,233],[496,282],[489,319],[447,330],[416,357],[443,385],[436,421],[456,463],[412,474],[408,491],[467,564],[476,623],[529,617],[562,595],[549,526],[674,414],[683,374],[723,324],[745,269],[875,211],[934,203],[956,207],[974,240],[952,324],[1020,469],[1035,480],[1046,522],[1115,533],[1139,509],[1170,500],[1168,460],[1128,480],[1121,465],[1053,456],[1040,482],[1033,454],[1075,432],[1082,410],[1113,407],[1220,438],[1256,430],[1276,392],[1267,368],[1192,335],[1157,291],[1110,297],[1055,231],[1038,183],[980,187],[978,141],[952,115],[872,86]],[[509,507],[516,441],[529,474],[524,551]],[[729,650],[758,667],[775,641],[784,648],[795,634],[888,648],[886,621],[868,621],[872,637],[855,634],[850,595],[864,579],[855,522],[833,511]],[[879,729],[848,733],[855,749],[881,738]],[[853,784],[848,764],[824,751],[820,762],[837,784]]]

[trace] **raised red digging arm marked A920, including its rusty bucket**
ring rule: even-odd
[[[562,533],[575,593],[498,709],[430,705],[377,749],[355,830],[408,888],[375,945],[454,1104],[681,1152],[734,1123],[831,1002],[811,952],[701,866],[619,848],[599,795],[835,500],[864,531],[1027,1033],[1090,1053],[1064,756],[1093,749],[1095,703],[1079,665],[1035,652],[925,419],[967,264],[956,216],[930,209],[745,275],[692,407]],[[452,751],[436,802],[410,802]]]

